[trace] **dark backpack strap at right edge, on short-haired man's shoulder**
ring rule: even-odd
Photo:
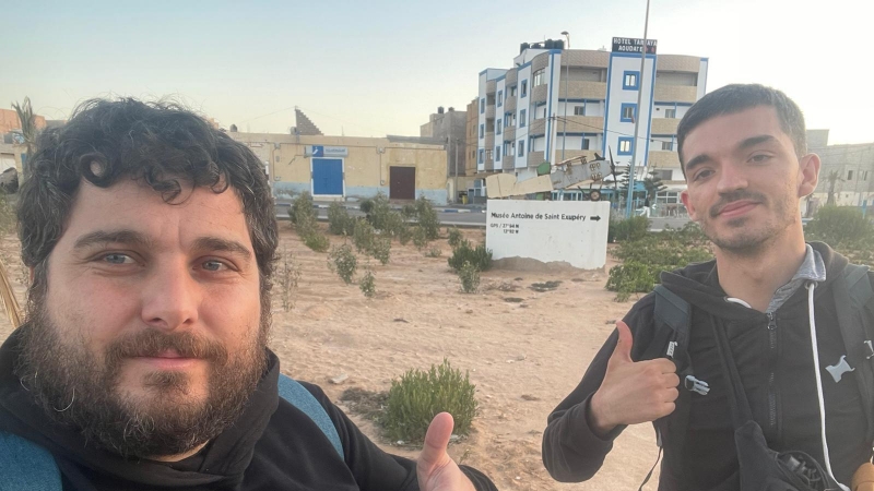
[[[843,278],[834,283],[835,308],[838,312],[847,358],[858,368],[855,380],[859,383],[862,406],[865,409],[869,440],[874,440],[874,350],[872,350],[872,327],[866,324],[865,307],[874,300],[867,266],[848,264]]]

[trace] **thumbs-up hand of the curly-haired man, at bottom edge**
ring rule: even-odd
[[[473,482],[446,453],[453,426],[452,415],[440,412],[425,433],[425,446],[416,460],[418,489],[422,491],[475,491]]]

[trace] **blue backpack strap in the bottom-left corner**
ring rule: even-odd
[[[36,443],[0,431],[0,491],[61,491],[61,472]]]

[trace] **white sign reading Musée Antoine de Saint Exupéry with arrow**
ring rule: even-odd
[[[610,203],[488,200],[486,247],[496,260],[566,262],[581,270],[606,264]]]

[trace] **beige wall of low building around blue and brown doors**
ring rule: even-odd
[[[439,145],[390,142],[388,139],[354,136],[299,136],[272,133],[228,133],[246,143],[262,161],[269,163],[268,175],[273,194],[290,199],[311,192],[311,158],[307,145],[343,146],[345,194],[341,199],[362,200],[381,191],[389,193],[389,168],[416,168],[416,196],[425,196],[444,205],[446,193],[446,151]],[[328,156],[330,157],[330,156]]]

